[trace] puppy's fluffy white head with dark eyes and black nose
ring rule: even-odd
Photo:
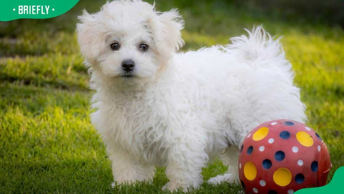
[[[183,46],[176,10],[159,13],[141,0],[117,0],[79,16],[80,50],[93,71],[111,79],[142,82],[157,77]]]

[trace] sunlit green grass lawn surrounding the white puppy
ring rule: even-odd
[[[157,1],[159,10],[180,9],[186,21],[183,50],[197,49],[263,24],[283,35],[283,49],[295,70],[295,84],[307,105],[308,125],[327,143],[334,171],[344,165],[344,31],[310,20],[276,17],[223,1]],[[153,184],[116,185],[110,161],[90,124],[86,69],[75,23],[82,0],[68,13],[46,20],[0,23],[0,193],[169,193],[158,169]],[[204,169],[204,180],[226,167]],[[203,184],[193,193],[238,193],[238,185]]]

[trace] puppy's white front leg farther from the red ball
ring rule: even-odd
[[[117,183],[151,182],[153,180],[154,165],[138,160],[128,151],[117,146],[108,146],[108,152],[112,162],[112,173]]]

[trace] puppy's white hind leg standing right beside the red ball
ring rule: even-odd
[[[225,174],[217,175],[213,178],[210,178],[207,183],[219,184],[221,182],[234,183],[239,181],[238,174],[238,158],[240,150],[237,146],[229,146],[225,153],[220,155],[220,158],[224,165],[228,165],[228,169]]]

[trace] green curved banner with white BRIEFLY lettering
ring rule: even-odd
[[[79,0],[3,0],[0,21],[21,18],[46,19],[64,14]]]

